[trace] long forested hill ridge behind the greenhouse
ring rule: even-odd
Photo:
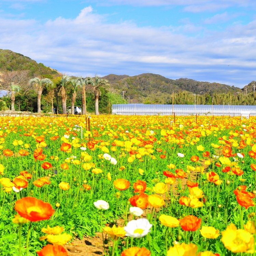
[[[168,79],[157,74],[141,74],[136,76],[110,74],[103,77],[111,84],[113,90],[125,92],[131,102],[163,103],[170,101],[172,92],[184,94],[209,95],[241,93],[242,89],[219,83],[198,82],[192,79]]]

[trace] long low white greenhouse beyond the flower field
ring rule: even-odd
[[[256,105],[165,105],[165,104],[113,104],[116,115],[229,115],[241,113],[256,115]]]

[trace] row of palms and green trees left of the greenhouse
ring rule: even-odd
[[[82,114],[96,115],[110,111],[112,104],[126,103],[118,93],[108,90],[109,82],[95,77],[70,77],[50,74],[29,77],[29,71],[7,71],[0,75],[0,90],[8,95],[1,98],[0,110],[54,112],[67,114],[67,105],[82,107]]]

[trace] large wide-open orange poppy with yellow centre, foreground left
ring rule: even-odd
[[[17,200],[14,209],[29,221],[49,219],[54,213],[51,204],[34,197],[23,197]]]

